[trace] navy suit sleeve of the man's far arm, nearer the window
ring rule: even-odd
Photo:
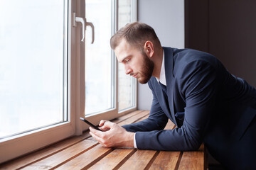
[[[123,125],[122,127],[125,128],[129,132],[145,132],[151,130],[163,130],[168,122],[168,118],[165,115],[164,111],[162,111],[159,101],[152,90],[151,82],[149,82],[149,88],[153,94],[153,101],[151,104],[151,109],[149,113],[149,118],[142,120],[138,123],[132,123],[129,125]]]

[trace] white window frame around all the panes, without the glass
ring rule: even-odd
[[[73,27],[73,12],[77,16],[85,16],[85,10],[82,6],[85,6],[85,1],[82,0],[67,0],[68,4],[68,52],[66,56],[68,57],[68,98],[67,102],[67,113],[68,118],[64,123],[58,123],[56,125],[50,125],[46,128],[41,128],[38,130],[33,130],[31,132],[25,132],[20,135],[15,135],[12,137],[6,137],[0,140],[0,164],[6,162],[10,159],[20,157],[23,154],[33,152],[36,149],[40,149],[54,142],[58,142],[67,137],[73,135],[82,135],[83,130],[87,130],[88,126],[79,120],[85,113],[85,45],[80,43],[82,29],[81,26]],[[117,0],[114,0],[114,12],[117,13]],[[132,0],[134,11],[134,21],[137,21],[137,0]],[[84,8],[85,9],[85,8]],[[117,16],[115,15],[115,30],[117,29]],[[113,53],[113,52],[112,52]],[[114,57],[114,70],[117,71],[117,60]],[[99,120],[111,120],[117,118],[125,113],[134,111],[137,109],[137,92],[136,92],[136,104],[134,108],[129,108],[127,111],[122,111],[118,113],[117,104],[117,72],[114,75],[115,79],[115,108],[112,111],[107,111],[105,113],[92,115],[87,119],[92,123],[99,123]],[[137,83],[135,85],[135,90],[137,91]]]

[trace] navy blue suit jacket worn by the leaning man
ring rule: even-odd
[[[149,118],[124,125],[139,149],[208,151],[228,169],[256,169],[256,90],[206,52],[164,47],[166,92],[149,80]],[[163,130],[170,119],[174,130]]]

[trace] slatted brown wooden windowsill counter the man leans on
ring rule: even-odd
[[[119,125],[147,118],[149,111],[134,111],[113,120]],[[169,122],[166,129],[175,128]],[[194,152],[164,152],[133,148],[105,148],[88,132],[0,165],[0,169],[207,169],[203,145]]]

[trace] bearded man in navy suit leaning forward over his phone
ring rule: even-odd
[[[124,125],[102,120],[90,134],[105,147],[196,150],[202,142],[228,169],[256,169],[256,90],[213,55],[161,47],[154,29],[130,23],[110,44],[126,74],[148,83],[149,118]],[[168,119],[176,126],[163,130]],[[135,133],[134,133],[135,132]]]

